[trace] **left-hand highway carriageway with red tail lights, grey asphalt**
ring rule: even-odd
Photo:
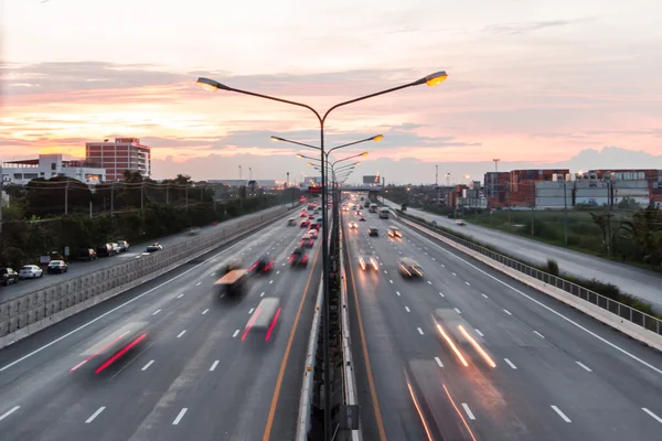
[[[280,219],[263,230],[0,351],[0,439],[287,440],[321,277],[320,244],[307,269],[287,265],[303,229]],[[213,293],[233,257],[268,252],[238,302]],[[266,341],[246,332],[261,299],[280,299]],[[86,349],[128,323],[148,337],[100,374]]]

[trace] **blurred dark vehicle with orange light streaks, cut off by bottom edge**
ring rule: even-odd
[[[405,381],[426,440],[479,440],[460,413],[460,404],[453,400],[449,389],[450,383],[435,362],[409,361]]]

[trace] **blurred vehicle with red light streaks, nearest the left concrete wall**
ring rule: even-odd
[[[70,369],[70,374],[87,369],[100,374],[109,366],[126,359],[130,352],[147,338],[148,334],[148,322],[131,322],[124,325],[94,346],[83,351],[81,354],[83,359]]]

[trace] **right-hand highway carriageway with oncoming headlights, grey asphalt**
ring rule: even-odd
[[[660,439],[662,355],[403,224],[403,239],[387,238],[395,220],[365,216],[343,233],[363,439],[426,439],[404,375],[415,359],[438,369],[455,406],[445,418],[470,430],[460,439]],[[362,270],[359,250],[380,270]],[[398,275],[401,257],[421,280]]]

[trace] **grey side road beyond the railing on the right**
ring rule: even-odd
[[[386,200],[386,204],[392,207],[399,207],[398,204],[388,200]],[[538,265],[546,265],[547,259],[554,259],[558,262],[562,272],[613,283],[622,292],[644,299],[653,304],[656,310],[662,311],[662,290],[660,290],[662,275],[496,229],[469,224],[458,226],[453,219],[427,213],[423,209],[407,207],[407,213],[428,222],[435,220],[439,226],[462,233],[481,244],[503,250],[516,259]]]

